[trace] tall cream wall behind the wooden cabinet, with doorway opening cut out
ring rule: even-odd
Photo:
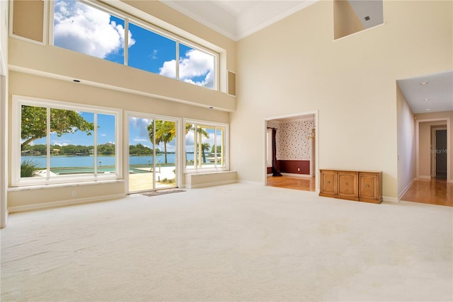
[[[382,170],[396,200],[396,79],[452,68],[451,11],[451,1],[385,1],[384,25],[333,42],[333,3],[319,1],[239,41],[239,179],[265,182],[266,117],[319,110],[319,168]]]

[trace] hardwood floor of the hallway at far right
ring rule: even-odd
[[[401,200],[453,207],[453,183],[436,178],[415,180]]]

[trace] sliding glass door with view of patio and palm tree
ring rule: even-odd
[[[128,115],[128,192],[177,187],[178,120]]]

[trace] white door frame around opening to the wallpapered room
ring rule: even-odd
[[[319,167],[319,124],[318,124],[318,115],[319,111],[314,110],[314,111],[307,111],[307,112],[300,112],[300,113],[294,113],[290,115],[277,115],[273,117],[265,117],[263,120],[263,144],[261,150],[263,151],[263,178],[262,178],[262,183],[263,185],[266,185],[267,179],[268,179],[268,165],[267,165],[267,158],[266,158],[266,137],[268,135],[268,121],[270,120],[279,120],[283,118],[289,118],[289,117],[302,117],[306,115],[314,115],[314,124],[315,124],[315,150],[314,150],[314,161],[310,161],[310,172],[313,172],[311,176],[315,177],[315,192],[319,193],[319,169],[316,169],[316,167]]]

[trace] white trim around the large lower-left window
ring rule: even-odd
[[[115,116],[115,165],[116,173],[106,175],[65,175],[58,178],[21,178],[21,106],[40,106],[46,108],[56,108],[63,110],[89,111],[98,114]],[[98,180],[117,180],[122,178],[122,110],[113,108],[103,108],[93,105],[81,105],[77,103],[67,103],[59,100],[47,100],[42,98],[30,98],[27,96],[13,95],[12,104],[13,120],[12,123],[12,146],[11,146],[11,186],[37,186],[58,183],[93,182]],[[96,134],[95,134],[96,135]],[[47,167],[48,168],[48,167]]]

